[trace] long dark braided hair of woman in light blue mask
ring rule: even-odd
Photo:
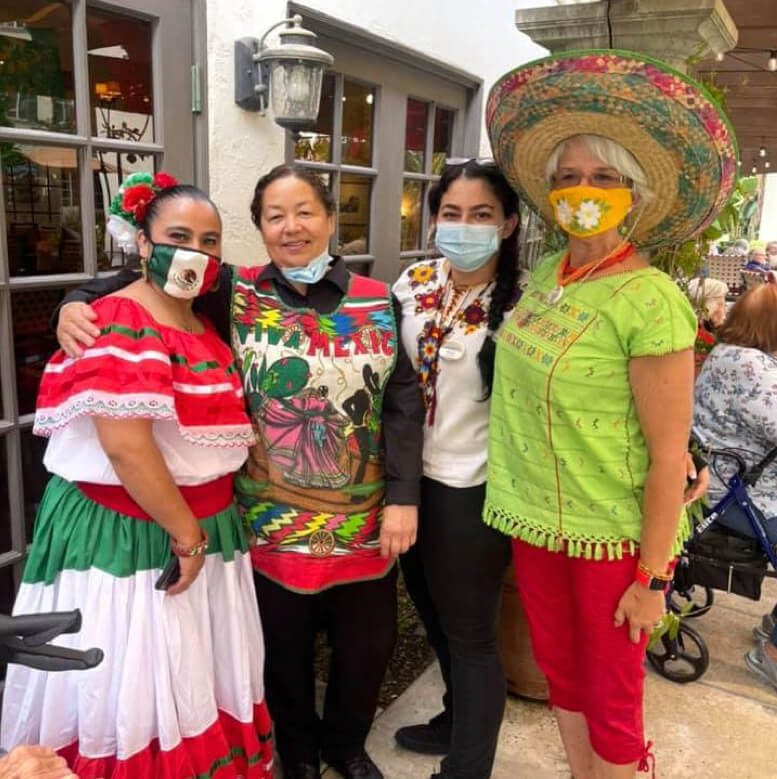
[[[520,233],[520,214],[518,195],[507,183],[499,168],[493,162],[482,163],[470,160],[463,165],[448,165],[443,170],[437,184],[429,190],[429,211],[436,217],[440,212],[442,196],[450,185],[461,177],[465,179],[480,179],[484,181],[502,204],[505,218],[519,216],[518,224],[512,235],[505,238],[499,247],[499,259],[496,264],[496,284],[488,307],[487,332],[483,346],[478,352],[478,369],[483,380],[483,399],[491,397],[494,386],[494,357],[496,341],[494,336],[502,324],[505,311],[515,298],[518,285],[518,238]]]

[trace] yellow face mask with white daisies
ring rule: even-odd
[[[617,227],[631,210],[627,187],[601,189],[578,185],[554,189],[548,195],[559,227],[569,235],[588,238]]]

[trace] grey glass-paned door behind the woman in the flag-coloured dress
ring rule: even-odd
[[[192,5],[0,3],[0,604],[48,480],[32,421],[51,314],[124,264],[104,224],[127,174],[194,181]]]

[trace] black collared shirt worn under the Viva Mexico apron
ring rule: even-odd
[[[122,270],[110,278],[91,279],[70,292],[65,303],[91,303],[96,298],[126,287],[136,281],[138,272]],[[323,279],[309,284],[305,295],[293,287],[272,263],[265,266],[259,280],[269,280],[286,305],[312,308],[319,314],[331,314],[348,291],[349,271],[341,257],[335,257]],[[222,265],[218,288],[194,302],[194,309],[210,319],[226,343],[230,339],[230,307],[232,298],[232,271]],[[402,345],[400,333],[402,308],[392,295],[397,322],[397,361],[386,383],[383,395],[383,439],[386,450],[386,503],[418,505],[420,478],[423,469],[424,409],[418,379]],[[56,327],[59,310],[52,323]]]

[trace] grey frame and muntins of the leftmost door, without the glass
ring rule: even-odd
[[[27,502],[23,479],[22,435],[32,428],[34,414],[19,414],[17,397],[17,365],[13,322],[13,296],[19,292],[33,292],[74,287],[95,276],[106,276],[115,270],[98,271],[98,245],[96,235],[96,213],[92,157],[98,151],[116,154],[146,154],[155,169],[163,162],[174,167],[190,180],[204,182],[207,176],[207,114],[192,109],[191,129],[174,123],[174,111],[163,96],[179,92],[183,101],[191,103],[188,85],[192,79],[192,68],[205,66],[205,3],[204,0],[180,2],[176,6],[168,0],[62,0],[70,10],[71,38],[68,55],[73,60],[73,86],[75,128],[73,132],[25,129],[0,126],[0,141],[72,149],[75,152],[74,175],[78,176],[80,207],[82,269],[76,272],[42,273],[30,276],[11,276],[8,250],[9,223],[5,210],[5,179],[0,165],[0,446],[5,448],[6,475],[8,478],[8,509],[10,522],[10,549],[0,550],[0,570],[10,568],[14,586],[18,588],[21,579],[21,563],[27,553],[26,516]],[[180,9],[187,8],[188,16],[181,17]],[[87,16],[92,10],[119,14],[128,19],[137,19],[151,25],[151,62],[153,142],[134,142],[116,138],[93,136],[91,117],[93,113],[89,94],[89,53],[87,42]],[[185,33],[190,43],[192,65],[180,65],[180,58],[165,56],[171,40],[181,36],[181,25],[189,23]],[[195,64],[196,63],[196,64]],[[182,91],[182,86],[186,89]],[[201,96],[202,97],[202,96]],[[207,101],[202,99],[202,105]],[[176,104],[177,105],[177,104]],[[180,114],[180,110],[176,108]],[[186,124],[186,123],[182,123]],[[179,175],[180,175],[179,174]],[[3,586],[3,589],[4,586]],[[12,593],[3,592],[3,596]],[[2,683],[0,682],[0,689]]]

